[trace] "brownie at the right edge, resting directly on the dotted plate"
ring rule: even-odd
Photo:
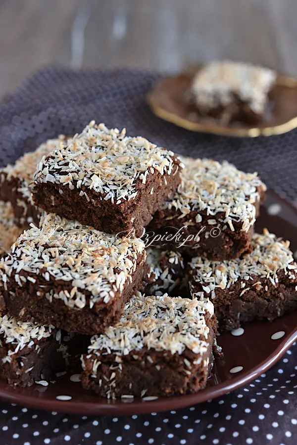
[[[223,262],[193,258],[189,265],[191,295],[211,299],[221,331],[297,309],[297,264],[289,241],[264,230],[263,235],[253,235],[252,246],[253,251],[242,258]]]

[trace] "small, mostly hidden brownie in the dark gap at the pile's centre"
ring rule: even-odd
[[[176,294],[184,279],[184,260],[180,253],[154,248],[146,249],[148,274],[145,276],[146,295]]]

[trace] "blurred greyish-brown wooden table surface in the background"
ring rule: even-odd
[[[297,0],[0,0],[0,95],[46,64],[231,58],[297,76],[296,45]]]

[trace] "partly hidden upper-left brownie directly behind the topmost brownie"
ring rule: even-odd
[[[14,165],[0,170],[0,199],[12,204],[16,222],[39,223],[40,211],[34,206],[29,185],[33,182],[37,164],[54,147],[65,141],[65,136],[49,139],[35,151],[21,156]]]

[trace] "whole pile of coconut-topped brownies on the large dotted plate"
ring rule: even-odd
[[[288,243],[253,233],[265,192],[256,174],[91,122],[0,178],[0,219],[16,230],[0,262],[9,383],[47,385],[73,362],[63,339],[84,335],[84,388],[112,399],[193,393],[220,354],[217,318],[233,329],[297,307]],[[141,239],[148,231],[158,246]]]

